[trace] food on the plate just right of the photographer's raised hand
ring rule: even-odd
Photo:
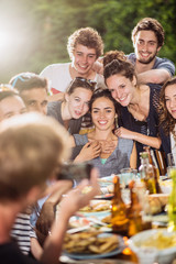
[[[109,200],[91,200],[90,204],[79,211],[81,212],[96,212],[110,210],[111,201]]]

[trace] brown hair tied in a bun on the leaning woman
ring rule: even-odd
[[[108,63],[108,64],[106,64]],[[103,77],[105,81],[113,75],[122,74],[124,77],[129,78],[131,81],[133,77],[136,77],[134,66],[128,61],[123,52],[113,51],[107,53],[103,58]]]

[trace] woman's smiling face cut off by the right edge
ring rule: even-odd
[[[168,112],[176,119],[176,85],[169,85],[165,89],[165,101]]]

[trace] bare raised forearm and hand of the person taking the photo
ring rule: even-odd
[[[59,208],[59,215],[52,227],[51,235],[47,237],[44,244],[44,252],[41,257],[41,261],[44,264],[58,263],[68,220],[76,211],[88,205],[89,200],[99,194],[99,184],[97,179],[98,172],[97,169],[92,169],[90,183],[88,183],[88,180],[84,180],[76,189],[73,189],[68,193],[67,197],[63,199]],[[82,194],[82,189],[87,185],[91,186],[92,189],[88,194]]]

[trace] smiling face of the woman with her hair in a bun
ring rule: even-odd
[[[117,74],[107,78],[106,81],[112,97],[122,107],[128,107],[133,98],[133,92],[135,89],[134,85],[136,84],[135,77],[133,77],[133,80],[131,81],[125,76]]]

